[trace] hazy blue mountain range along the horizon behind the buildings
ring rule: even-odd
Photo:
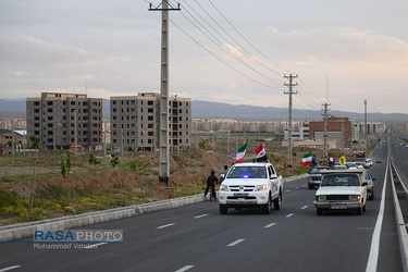
[[[109,119],[110,102],[103,99],[103,118]],[[0,99],[0,118],[26,119],[25,99]],[[322,111],[293,110],[293,119],[298,121],[322,120]],[[362,121],[363,113],[330,111],[331,115],[338,118],[349,118],[350,120]],[[287,120],[287,108],[256,107],[247,104],[228,104],[208,101],[193,101],[191,116],[194,119],[234,119],[242,121],[281,121]],[[404,113],[368,113],[368,121],[379,122],[407,122],[408,114]]]

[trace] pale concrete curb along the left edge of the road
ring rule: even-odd
[[[284,183],[305,178],[307,174],[284,178]],[[47,219],[41,221],[0,226],[0,242],[9,242],[33,236],[35,231],[55,232],[98,224],[102,222],[125,219],[162,210],[180,208],[187,205],[202,202],[203,194],[178,197],[174,199],[154,201],[150,203],[135,205],[103,211],[89,212],[72,217]]]

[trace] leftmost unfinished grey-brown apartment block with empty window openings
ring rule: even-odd
[[[41,92],[26,99],[28,137],[39,137],[40,147],[96,148],[102,145],[102,99],[79,94]]]

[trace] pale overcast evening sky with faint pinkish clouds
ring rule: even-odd
[[[153,7],[161,0],[152,0]],[[176,5],[175,1],[171,1]],[[193,100],[408,113],[407,0],[181,0],[170,94]],[[1,98],[160,91],[161,13],[145,0],[1,0]]]

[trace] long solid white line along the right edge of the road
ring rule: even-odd
[[[390,162],[386,164],[383,191],[381,194],[380,211],[379,211],[379,217],[376,218],[374,232],[372,234],[370,255],[369,255],[369,260],[367,261],[367,268],[366,268],[367,272],[375,272],[378,261],[379,261],[381,228],[383,226],[383,220],[384,220],[385,188],[386,188],[386,182],[387,182],[386,177],[388,173],[388,164]]]

